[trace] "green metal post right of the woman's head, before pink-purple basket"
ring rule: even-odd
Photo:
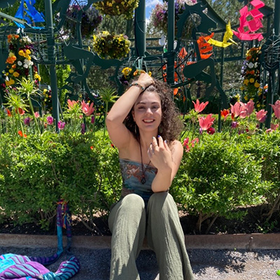
[[[174,83],[174,39],[175,39],[175,2],[168,1],[168,22],[167,22],[167,83]]]

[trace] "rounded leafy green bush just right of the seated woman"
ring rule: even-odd
[[[262,202],[260,160],[244,153],[243,144],[230,142],[227,134],[204,135],[183,155],[172,194],[190,214],[198,214],[197,231],[202,222],[218,216],[240,218],[233,214],[239,206]]]

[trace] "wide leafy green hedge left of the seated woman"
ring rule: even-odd
[[[57,202],[64,199],[72,214],[94,230],[94,212],[108,211],[121,186],[116,150],[108,138],[101,138],[44,132],[13,140],[3,134],[0,219],[48,226]]]

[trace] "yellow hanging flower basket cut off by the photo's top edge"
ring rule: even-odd
[[[139,0],[103,0],[94,3],[94,7],[105,15],[125,15],[126,19],[130,19],[138,3]]]

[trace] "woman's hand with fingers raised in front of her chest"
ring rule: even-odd
[[[148,148],[148,157],[159,171],[170,169],[172,171],[172,152],[161,136],[158,136],[158,141],[153,137],[152,143]]]

